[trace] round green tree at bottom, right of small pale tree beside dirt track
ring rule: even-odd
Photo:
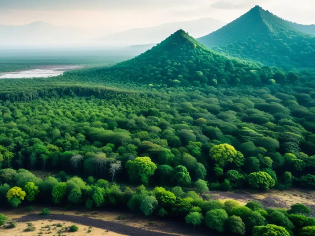
[[[227,218],[228,215],[224,209],[215,209],[208,211],[204,220],[209,228],[222,233],[224,231],[224,224]]]

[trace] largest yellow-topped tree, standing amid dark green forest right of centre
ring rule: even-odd
[[[232,145],[227,143],[213,146],[209,151],[209,156],[219,166],[225,166],[227,163],[233,162],[240,166],[244,161],[241,153],[238,153]]]

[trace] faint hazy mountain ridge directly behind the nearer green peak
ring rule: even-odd
[[[100,41],[110,45],[151,44],[161,42],[178,29],[183,29],[192,37],[201,37],[225,25],[221,20],[202,18],[199,20],[172,22],[155,27],[135,28],[100,37]]]

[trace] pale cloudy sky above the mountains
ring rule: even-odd
[[[110,32],[203,17],[230,22],[255,5],[286,20],[315,24],[315,0],[0,0],[0,24],[43,20]]]

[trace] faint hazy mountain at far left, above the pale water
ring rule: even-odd
[[[0,46],[75,44],[91,38],[84,29],[56,26],[43,21],[27,25],[0,25],[0,35]]]

